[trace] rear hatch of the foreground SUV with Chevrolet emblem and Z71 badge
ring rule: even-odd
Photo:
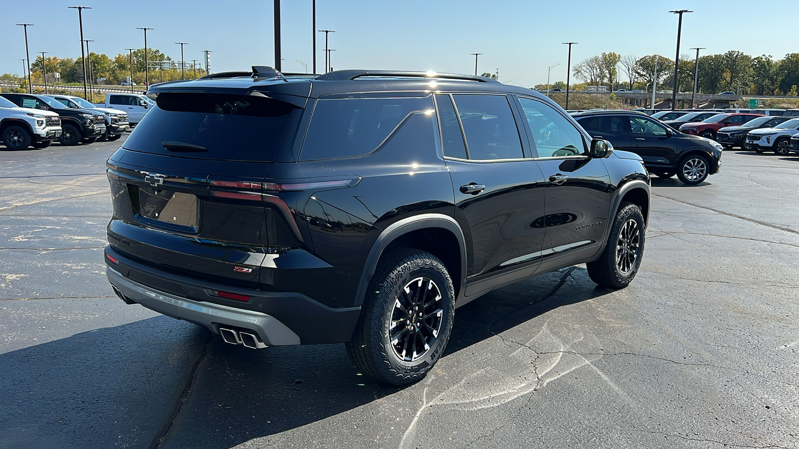
[[[109,244],[161,270],[257,288],[264,256],[287,244],[262,183],[293,144],[304,101],[159,93],[108,161]]]

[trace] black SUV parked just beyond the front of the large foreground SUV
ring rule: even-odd
[[[635,111],[589,111],[572,114],[595,138],[606,139],[615,149],[642,157],[646,169],[658,177],[673,177],[699,184],[721,168],[720,144],[705,137],[680,133],[660,121]]]

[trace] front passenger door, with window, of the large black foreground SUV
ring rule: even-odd
[[[578,127],[543,101],[519,97],[531,148],[547,182],[546,235],[539,272],[594,256],[610,224],[610,175],[588,157]]]

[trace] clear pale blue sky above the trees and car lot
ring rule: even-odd
[[[201,50],[213,50],[212,70],[248,70],[274,62],[272,0],[2,0],[0,15],[0,74],[22,73],[25,42],[22,26],[28,22],[31,58],[37,51],[49,56],[80,56],[78,12],[67,6],[92,6],[84,10],[84,38],[93,39],[91,50],[110,57],[125,48],[148,45],[180,59],[180,46],[188,42],[185,59],[201,60]],[[630,0],[570,2],[472,0],[317,0],[316,28],[330,34],[335,69],[369,68],[436,70],[474,73],[495,72],[500,81],[531,86],[566,78],[566,46],[579,42],[572,63],[614,51],[618,54],[662,54],[674,58],[677,15],[669,10],[690,9],[682,26],[682,54],[690,47],[707,47],[702,54],[741,50],[757,56],[781,58],[799,51],[789,31],[793,2],[761,0]],[[304,71],[296,60],[312,62],[311,0],[283,0],[283,70]],[[764,16],[762,14],[767,14]],[[781,15],[782,14],[782,15]],[[769,17],[769,18],[765,18]],[[785,20],[779,19],[782,17]],[[776,31],[785,26],[785,30]],[[324,70],[324,34],[317,34],[317,71]]]

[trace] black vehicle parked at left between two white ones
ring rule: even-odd
[[[0,93],[22,108],[44,109],[58,113],[61,117],[62,133],[58,141],[62,145],[93,143],[105,134],[105,117],[91,109],[72,109],[53,97],[29,93]]]

